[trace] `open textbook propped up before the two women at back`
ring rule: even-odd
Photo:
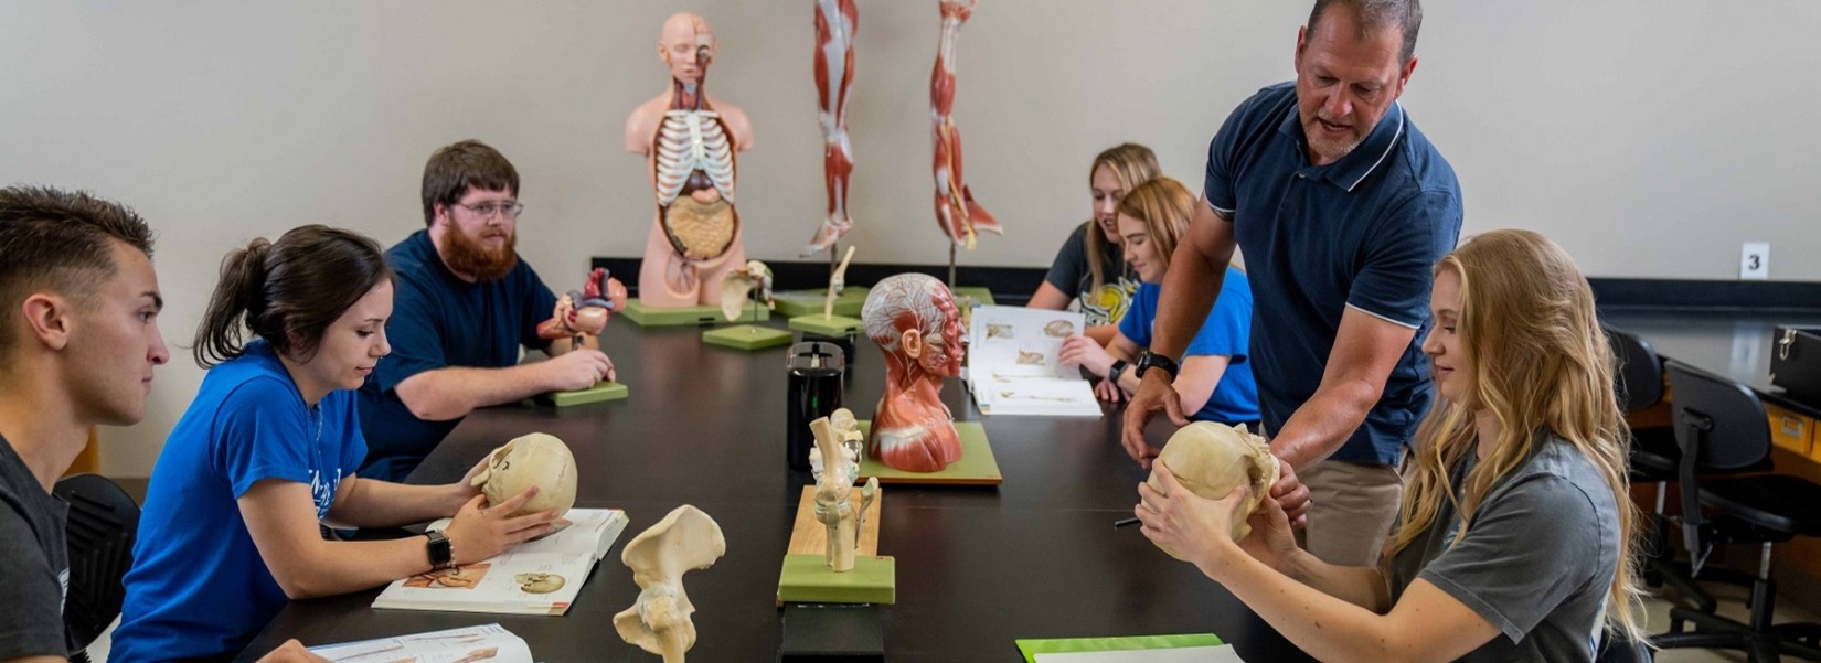
[[[989,415],[1100,417],[1076,366],[1056,361],[1062,341],[1085,330],[1076,311],[976,306],[969,321],[967,390]]]

